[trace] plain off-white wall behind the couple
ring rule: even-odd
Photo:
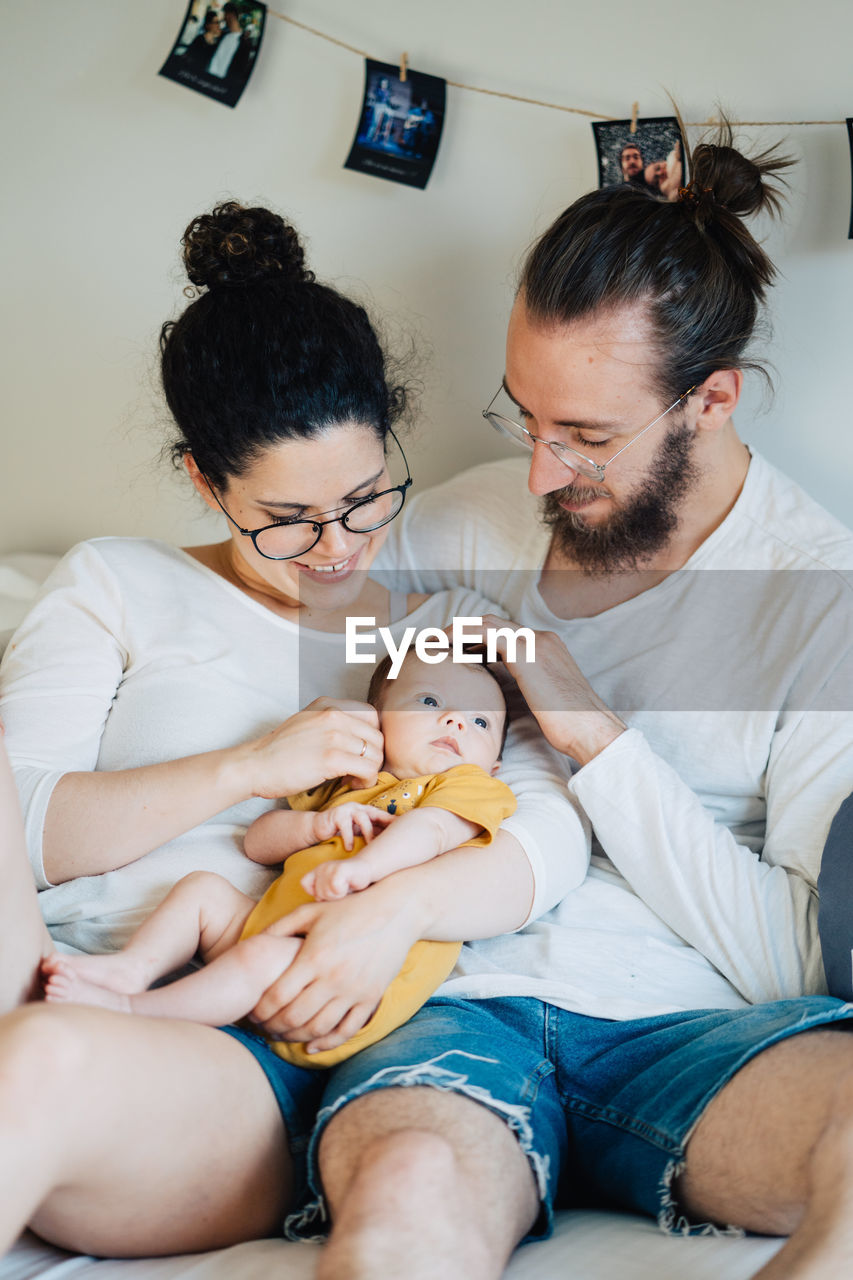
[[[278,0],[272,8],[279,8]],[[686,119],[853,111],[849,0],[286,0],[374,56],[450,79]],[[178,241],[223,196],[289,214],[318,273],[369,296],[429,355],[411,453],[420,484],[502,447],[479,419],[502,372],[514,273],[533,237],[594,186],[589,123],[448,90],[425,192],[342,163],[362,61],[274,18],[236,110],[156,76],[183,0],[38,0],[3,9],[0,550],[104,532],[200,541],[215,527],[158,462],[156,335],[182,303]],[[843,125],[786,136],[802,159],[770,232],[775,403],[747,440],[853,524],[853,243]]]

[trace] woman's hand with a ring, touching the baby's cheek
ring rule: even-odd
[[[316,698],[238,753],[251,794],[265,800],[307,791],[327,778],[373,786],[383,760],[379,717],[366,703]]]

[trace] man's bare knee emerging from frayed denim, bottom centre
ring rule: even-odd
[[[323,1134],[320,1171],[334,1225],[318,1280],[494,1280],[539,1211],[507,1125],[432,1088],[343,1107]]]

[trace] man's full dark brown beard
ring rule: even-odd
[[[647,566],[675,532],[681,500],[699,476],[692,457],[694,442],[685,424],[672,426],[648,477],[602,525],[588,525],[583,512],[560,506],[561,500],[579,503],[599,494],[598,485],[574,484],[546,494],[542,515],[552,530],[555,549],[590,575]]]

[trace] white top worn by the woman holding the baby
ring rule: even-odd
[[[489,608],[457,588],[391,630],[400,643],[406,626],[442,626]],[[364,699],[370,672],[345,662],[342,635],[300,628],[165,543],[99,538],[70,550],[0,667],[0,718],[54,938],[110,951],[188,872],[219,872],[252,897],[277,874],[242,852],[246,826],[273,806],[247,800],[127,867],[51,886],[42,829],[63,773],[137,768],[233,746],[320,695]],[[510,730],[501,778],[519,800],[503,827],[534,872],[533,916],[583,879],[588,824],[566,797],[560,758],[530,717]]]

